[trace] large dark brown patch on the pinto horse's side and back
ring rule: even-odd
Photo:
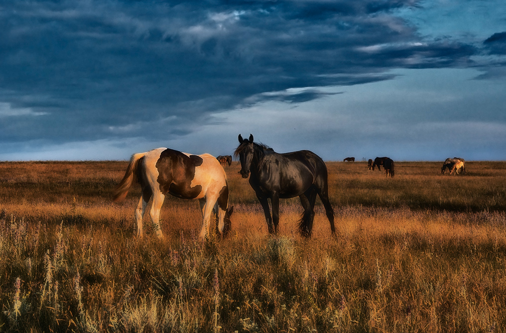
[[[187,156],[168,148],[162,151],[156,162],[160,191],[183,199],[196,198],[202,192],[202,186],[191,187],[191,182],[195,178],[195,168],[202,162],[203,159],[197,155]]]

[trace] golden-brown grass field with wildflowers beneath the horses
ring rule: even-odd
[[[268,236],[255,194],[225,170],[228,238],[202,242],[198,202],[167,197],[164,239],[135,236],[128,162],[0,163],[0,331],[503,332],[506,163],[327,162],[336,236],[298,198]],[[148,214],[147,214],[148,215]]]

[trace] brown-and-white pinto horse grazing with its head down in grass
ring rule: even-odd
[[[209,154],[192,155],[168,148],[157,148],[132,155],[128,169],[114,190],[114,202],[126,197],[134,178],[141,184],[142,195],[135,211],[137,234],[142,237],[142,218],[152,197],[149,215],[156,235],[163,234],[159,225],[160,209],[165,195],[182,199],[198,199],[202,211],[200,237],[205,238],[213,210],[218,215],[222,236],[230,230],[227,175],[217,159]]]

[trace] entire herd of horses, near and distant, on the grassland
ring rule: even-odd
[[[239,145],[234,155],[239,157],[242,178],[249,177],[249,185],[255,191],[264,210],[269,233],[278,232],[279,199],[298,196],[304,208],[299,221],[299,231],[304,237],[311,237],[314,220],[316,196],[319,196],[325,214],[334,228],[334,211],[328,198],[328,172],[325,162],[309,150],[289,153],[277,153],[272,148],[254,142],[253,136],[243,139],[239,134]],[[345,160],[354,161],[354,157]],[[156,235],[163,233],[159,225],[160,210],[165,195],[171,194],[183,199],[198,199],[202,213],[200,238],[209,235],[212,216],[218,220],[217,232],[226,236],[230,231],[230,216],[233,206],[229,207],[229,188],[227,175],[223,169],[232,163],[232,156],[214,157],[210,154],[194,155],[168,148],[157,148],[132,155],[123,179],[114,189],[113,201],[119,202],[126,197],[134,180],[141,185],[141,197],[135,210],[137,235],[143,236],[143,216],[150,199],[149,215]],[[383,165],[386,176],[393,177],[394,161],[389,157],[376,157],[368,160],[369,171]],[[447,158],[441,168],[451,174],[466,173],[464,160]],[[272,214],[268,199],[271,199]]]

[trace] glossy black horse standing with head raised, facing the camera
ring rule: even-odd
[[[234,152],[239,156],[242,178],[248,178],[249,185],[255,190],[269,227],[269,233],[278,232],[279,198],[299,196],[304,214],[299,223],[301,235],[311,237],[314,219],[316,195],[320,197],[334,229],[334,211],[328,199],[327,166],[323,160],[309,150],[300,150],[279,154],[273,149],[253,142],[253,136],[242,139],[239,134],[239,146]],[[271,199],[272,217],[268,198]],[[274,228],[272,226],[274,222]]]

